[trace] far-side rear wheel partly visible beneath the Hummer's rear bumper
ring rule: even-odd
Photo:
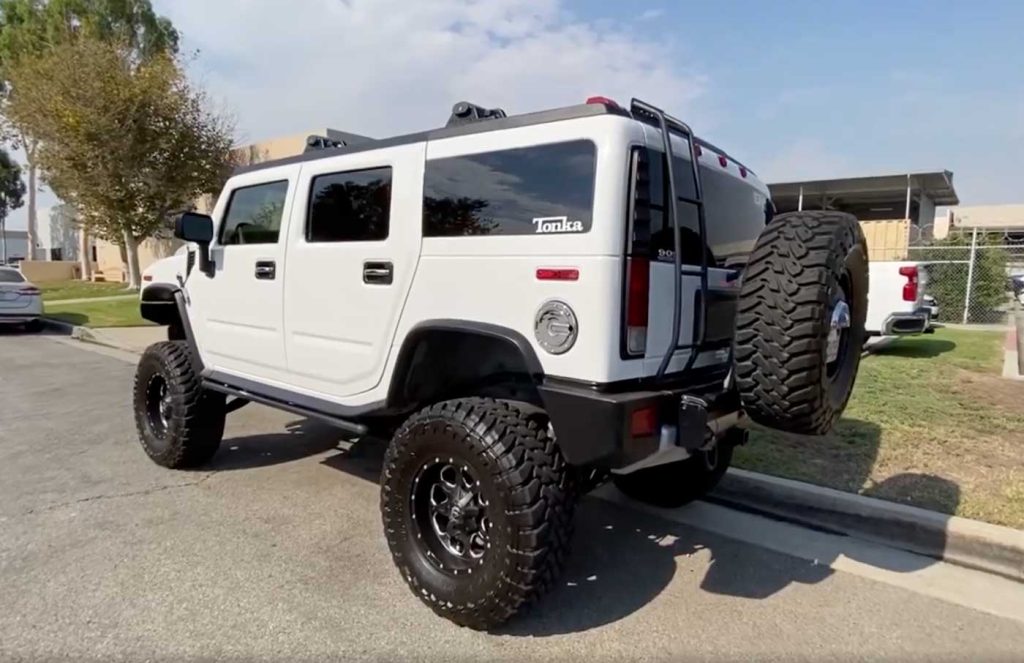
[[[710,493],[732,463],[730,442],[722,441],[686,460],[614,476],[615,488],[633,499],[673,508]]]

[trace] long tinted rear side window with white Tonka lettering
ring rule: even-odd
[[[423,235],[586,233],[596,161],[590,140],[428,161]]]

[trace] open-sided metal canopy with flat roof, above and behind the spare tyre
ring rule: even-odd
[[[931,223],[935,207],[959,204],[948,170],[779,182],[768,188],[779,212],[837,209],[861,220],[908,218]],[[924,216],[928,218],[920,218]]]

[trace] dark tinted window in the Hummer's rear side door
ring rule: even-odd
[[[390,214],[390,168],[319,175],[309,196],[306,241],[386,240]]]

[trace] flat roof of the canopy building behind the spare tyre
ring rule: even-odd
[[[795,207],[801,189],[805,199],[828,196],[848,204],[887,203],[906,197],[908,179],[912,193],[928,196],[936,205],[959,204],[956,190],[953,189],[953,174],[948,170],[778,182],[768,184],[768,189],[776,205],[780,201],[792,199]]]

